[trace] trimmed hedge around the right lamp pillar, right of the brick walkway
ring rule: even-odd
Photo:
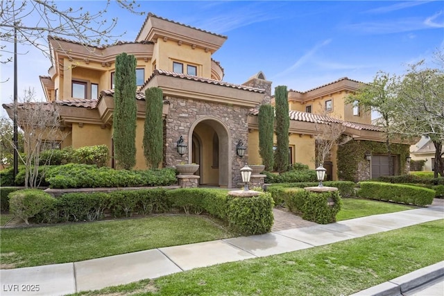
[[[300,188],[281,187],[275,192],[290,211],[301,214],[302,219],[319,224],[336,222],[336,215],[342,206],[338,191],[315,193]]]

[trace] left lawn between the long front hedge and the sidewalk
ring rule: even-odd
[[[1,229],[0,261],[19,268],[229,237],[209,218],[185,215]]]

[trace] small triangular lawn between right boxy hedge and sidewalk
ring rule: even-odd
[[[417,207],[407,204],[394,204],[377,200],[360,200],[356,198],[343,198],[341,211],[336,215],[337,221],[365,217],[370,215],[394,213]]]

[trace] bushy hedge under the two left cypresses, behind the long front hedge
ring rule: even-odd
[[[114,170],[95,165],[66,164],[56,166],[46,173],[51,188],[96,188],[130,186],[168,186],[177,183],[174,168],[144,171]]]

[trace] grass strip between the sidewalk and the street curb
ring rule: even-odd
[[[76,295],[350,295],[444,260],[444,220]]]

